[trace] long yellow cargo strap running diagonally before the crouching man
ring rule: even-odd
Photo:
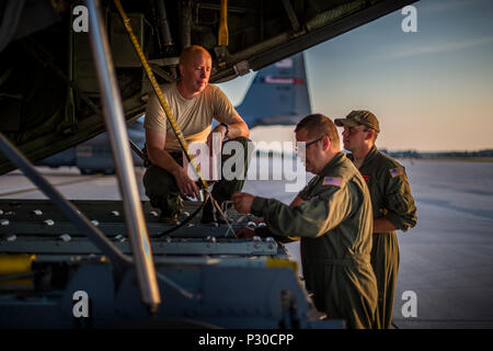
[[[146,56],[144,55],[144,52],[140,48],[139,43],[137,42],[137,37],[135,36],[134,31],[131,30],[131,26],[130,26],[130,19],[125,13],[121,1],[114,0],[114,2],[115,2],[116,8],[118,9],[119,15],[122,16],[122,21],[125,25],[125,29],[126,29],[128,35],[130,36],[130,41],[134,44],[135,50],[140,58],[140,63],[142,64],[144,69],[146,70],[147,77],[149,78],[149,80],[152,84],[152,88],[154,89],[154,92],[156,92],[156,95],[158,97],[159,103],[161,104],[162,109],[164,110],[168,121],[170,122],[170,124],[173,128],[173,132],[176,135],[176,139],[180,141],[180,145],[182,146],[182,149],[184,150],[185,156],[188,159],[188,162],[191,162],[193,169],[195,170],[205,192],[207,193],[210,201],[213,202],[213,205],[216,207],[218,213],[221,215],[222,219],[225,219],[226,224],[228,225],[228,233],[229,233],[229,230],[231,230],[231,233],[234,234],[234,230],[232,229],[231,225],[229,224],[229,220],[228,220],[226,214],[222,212],[219,204],[213,197],[213,194],[209,191],[209,185],[202,177],[200,170],[198,169],[197,163],[195,162],[194,158],[190,155],[188,144],[186,143],[182,131],[180,131],[180,127],[177,126],[176,121],[174,120],[173,114],[171,113],[170,106],[168,105],[167,100],[164,99],[164,95],[162,94],[161,88],[159,87],[158,81],[156,80],[156,77],[152,73],[150,66],[147,63]]]

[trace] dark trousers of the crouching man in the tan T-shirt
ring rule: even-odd
[[[248,138],[239,137],[225,141],[222,144],[222,148],[230,141],[238,141],[243,147],[243,161],[239,163],[244,165],[242,174],[244,176],[243,178],[245,178],[248,172],[248,163],[251,158],[251,152],[249,152],[248,145],[251,141]],[[250,147],[250,151],[251,150],[253,150],[253,147]],[[181,152],[171,154],[171,156],[179,165],[183,165]],[[222,156],[221,167],[222,163],[231,157],[236,157],[236,154],[233,152],[233,155]],[[243,189],[243,183],[244,179],[226,180],[222,177],[218,182],[214,184],[211,194],[214,199],[219,204],[221,204],[223,201],[230,200],[231,195],[236,191],[240,191],[241,189]],[[164,169],[154,165],[150,165],[147,168],[146,173],[144,174],[144,186],[146,189],[146,195],[149,197],[151,205],[161,210],[161,216],[171,217],[175,214],[180,214],[183,210],[182,197],[176,181],[174,177],[167,172]],[[203,218],[213,216],[213,206],[210,202],[208,202],[204,207],[203,213]]]

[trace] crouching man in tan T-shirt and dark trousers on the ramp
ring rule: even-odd
[[[218,145],[225,138],[240,143],[245,150],[243,171],[246,173],[249,127],[225,93],[209,84],[210,69],[211,57],[204,47],[192,45],[185,48],[180,56],[181,79],[164,84],[163,95],[186,143],[207,141],[210,149],[213,134],[219,136]],[[213,118],[220,123],[214,129]],[[181,145],[156,94],[149,99],[144,127],[150,161],[144,174],[146,195],[153,207],[161,208],[162,222],[175,222],[183,210],[181,195],[198,199],[199,194],[195,181],[182,165]],[[230,200],[234,191],[241,190],[243,182],[244,179],[221,179],[214,185],[211,193],[220,204]],[[214,219],[213,205],[208,202],[203,210],[202,222],[210,223]]]

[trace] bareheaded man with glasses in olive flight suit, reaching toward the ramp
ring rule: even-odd
[[[306,170],[317,177],[289,206],[234,193],[238,212],[267,223],[255,230],[240,228],[237,237],[300,237],[306,287],[313,292],[316,307],[331,319],[345,319],[349,328],[371,328],[377,283],[370,264],[372,218],[365,180],[341,151],[330,118],[309,115],[295,133]]]

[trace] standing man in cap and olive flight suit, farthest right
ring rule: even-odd
[[[375,140],[380,127],[369,111],[352,111],[335,124],[344,127],[343,144],[368,185],[374,214],[371,265],[377,276],[377,328],[390,328],[399,271],[395,230],[416,225],[416,206],[404,167],[380,152]]]

